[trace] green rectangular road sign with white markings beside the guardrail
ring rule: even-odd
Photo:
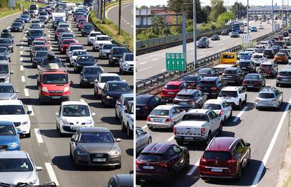
[[[167,71],[186,71],[185,53],[166,53]]]

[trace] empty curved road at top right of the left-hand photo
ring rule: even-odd
[[[106,18],[115,23],[118,27],[119,6],[112,6],[105,12]],[[134,36],[134,2],[122,3],[121,28]]]

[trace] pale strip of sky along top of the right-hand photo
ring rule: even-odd
[[[210,1],[211,0],[200,0],[200,2],[202,3],[202,6],[205,5],[210,5]],[[237,0],[226,0],[226,6],[231,6],[235,3],[235,1]],[[291,6],[291,0],[283,0],[284,4],[287,4],[287,1],[289,1],[289,5]],[[242,4],[247,4],[247,0],[238,0],[238,2],[241,2]],[[146,6],[155,6],[155,5],[167,5],[167,0],[134,0],[134,3],[136,4],[136,6],[142,6],[142,5],[146,5]],[[272,1],[271,0],[249,0],[249,4],[250,5],[271,5]],[[273,0],[273,4],[277,4],[278,6],[280,6],[282,4],[282,0]]]

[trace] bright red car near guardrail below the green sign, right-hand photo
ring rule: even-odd
[[[166,101],[173,100],[177,93],[185,88],[186,83],[183,81],[170,81],[164,86],[164,89],[161,92],[161,97]]]

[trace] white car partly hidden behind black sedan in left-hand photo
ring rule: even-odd
[[[100,74],[98,81],[94,83],[94,95],[98,98],[101,97],[102,89],[108,81],[122,81],[118,74]]]

